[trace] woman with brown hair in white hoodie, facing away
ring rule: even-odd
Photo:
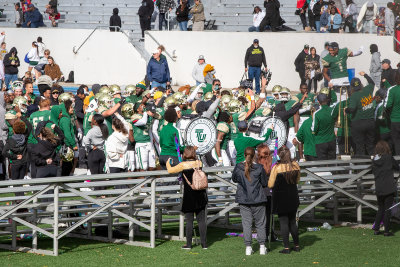
[[[106,141],[107,163],[110,173],[126,172],[128,167],[128,140],[129,124],[121,115],[115,113],[112,120],[112,129],[114,132]]]

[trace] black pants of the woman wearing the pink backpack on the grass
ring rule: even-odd
[[[206,222],[206,209],[205,208],[195,211],[195,212],[186,212],[185,213],[186,245],[189,247],[192,246],[193,221],[194,221],[195,213],[196,213],[197,224],[199,225],[200,242],[201,242],[201,245],[204,247],[207,245],[207,222]]]

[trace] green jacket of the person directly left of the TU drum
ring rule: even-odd
[[[176,150],[175,145],[175,136],[178,138],[178,143],[180,144],[181,139],[179,136],[178,129],[175,128],[173,123],[168,123],[165,125],[160,132],[160,147],[161,147],[161,156],[178,156],[178,151]],[[180,146],[179,150],[181,154],[183,153],[184,147]]]

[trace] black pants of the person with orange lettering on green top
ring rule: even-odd
[[[374,119],[351,122],[351,136],[356,145],[355,155],[371,156],[374,153],[375,121]]]

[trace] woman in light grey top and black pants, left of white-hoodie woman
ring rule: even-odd
[[[94,114],[91,121],[92,128],[83,137],[82,146],[88,153],[88,167],[90,174],[104,173],[106,156],[104,155],[104,143],[108,138],[108,128],[104,123],[104,117]]]

